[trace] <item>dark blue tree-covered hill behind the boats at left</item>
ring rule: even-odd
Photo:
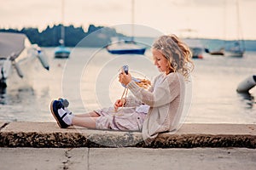
[[[41,47],[56,47],[60,45],[62,25],[47,26],[43,31],[38,31],[38,28],[25,27],[18,29],[0,29],[3,32],[18,32],[26,34],[26,37],[32,43],[37,43]],[[88,31],[84,31],[83,27],[63,26],[65,31],[65,45],[67,47],[76,46],[84,37],[89,37],[88,40],[81,43],[84,47],[102,47],[111,42],[111,37],[125,37],[118,33],[115,29],[90,25]],[[104,28],[104,29],[102,29]],[[89,35],[94,32],[93,38]]]

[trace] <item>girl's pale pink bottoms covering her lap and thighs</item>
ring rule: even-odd
[[[114,111],[113,107],[97,110],[100,115],[96,119],[97,129],[113,129],[122,131],[142,131],[146,114],[135,111],[134,107],[119,108]]]

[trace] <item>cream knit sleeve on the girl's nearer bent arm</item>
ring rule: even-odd
[[[131,93],[140,101],[151,107],[159,107],[172,102],[180,93],[179,80],[176,73],[167,75],[163,82],[154,88],[153,92],[147,91],[137,86],[136,82],[129,82],[127,87],[131,90]]]

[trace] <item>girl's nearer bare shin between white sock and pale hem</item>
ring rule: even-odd
[[[79,127],[96,128],[97,117],[79,117],[73,116],[72,124]]]

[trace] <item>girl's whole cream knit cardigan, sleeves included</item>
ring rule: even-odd
[[[156,85],[157,84],[157,85]],[[159,133],[177,127],[183,112],[185,84],[180,73],[160,74],[148,90],[129,82],[127,88],[135,96],[128,96],[125,106],[149,105],[148,115],[143,122],[143,139],[152,142]]]

